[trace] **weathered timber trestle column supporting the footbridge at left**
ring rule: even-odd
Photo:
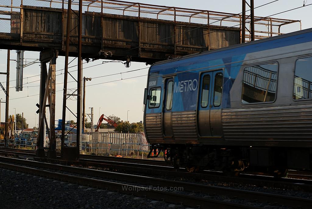
[[[57,51],[47,50],[40,52],[41,75],[40,75],[40,98],[39,98],[39,127],[37,136],[37,157],[45,157],[45,130],[48,129],[50,146],[48,150],[49,158],[56,158],[56,137],[55,137],[55,65]],[[46,63],[49,64],[47,72]],[[48,105],[46,100],[48,99]],[[46,119],[46,107],[50,112],[50,129]],[[45,127],[46,126],[46,127]]]

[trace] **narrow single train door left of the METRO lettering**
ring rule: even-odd
[[[172,96],[173,96],[173,78],[167,78],[165,80],[165,94],[163,101],[163,130],[165,136],[172,137],[171,129],[171,108],[172,108]]]

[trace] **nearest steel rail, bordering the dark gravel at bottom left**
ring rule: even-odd
[[[80,185],[85,185],[89,187],[95,187],[100,189],[107,189],[116,192],[121,192],[129,195],[135,195],[144,198],[150,198],[155,200],[161,200],[165,202],[171,202],[179,205],[185,205],[190,207],[200,207],[200,208],[220,208],[220,209],[239,209],[239,208],[246,208],[246,209],[255,209],[259,207],[252,207],[252,206],[245,206],[231,202],[225,201],[217,201],[211,200],[202,197],[192,197],[189,195],[173,193],[173,192],[164,192],[161,190],[150,189],[145,187],[138,187],[128,184],[121,184],[103,180],[96,180],[92,178],[86,177],[78,177],[74,175],[62,174],[58,172],[50,172],[44,171],[40,169],[24,167],[24,166],[17,166],[8,163],[0,162],[0,167],[15,170],[18,172],[27,172],[38,176],[54,178],[61,181],[77,183]],[[127,187],[127,189],[124,189]],[[131,189],[129,189],[131,188]]]

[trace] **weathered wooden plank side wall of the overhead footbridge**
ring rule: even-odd
[[[64,55],[67,11],[48,7],[23,7],[11,14],[10,33],[0,33],[1,48],[43,51],[53,48]],[[78,11],[77,11],[78,12]],[[101,18],[103,27],[101,27]],[[124,15],[84,12],[82,19],[84,58],[99,58],[102,50],[113,53],[108,59],[153,63],[168,57],[204,52],[240,43],[240,28],[226,28]],[[76,56],[78,43],[77,16],[71,15],[70,55]],[[22,28],[22,35],[20,34]],[[176,44],[174,44],[176,42]],[[150,44],[152,43],[152,44]]]

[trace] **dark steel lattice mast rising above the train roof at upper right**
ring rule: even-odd
[[[241,42],[246,41],[246,30],[250,33],[250,41],[255,40],[255,16],[254,16],[254,0],[242,0],[242,21],[241,21]],[[246,4],[250,8],[250,15],[246,17]],[[250,18],[250,29],[246,28],[246,20]]]

